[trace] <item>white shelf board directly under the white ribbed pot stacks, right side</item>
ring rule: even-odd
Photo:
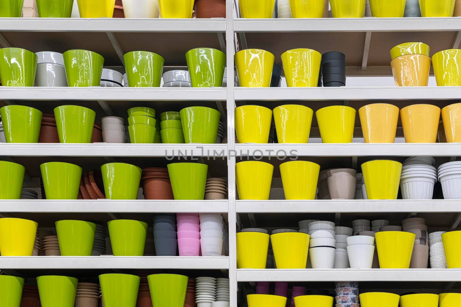
[[[237,200],[237,213],[458,213],[460,200]]]

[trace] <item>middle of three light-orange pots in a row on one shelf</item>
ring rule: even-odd
[[[406,143],[435,143],[440,108],[432,104],[413,104],[400,110]]]

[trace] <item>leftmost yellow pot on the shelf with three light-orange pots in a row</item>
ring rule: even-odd
[[[235,131],[238,143],[267,143],[272,110],[259,105],[235,108]]]

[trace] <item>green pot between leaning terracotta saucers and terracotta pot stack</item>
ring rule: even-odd
[[[101,166],[107,199],[137,199],[141,168],[127,163],[107,163]]]

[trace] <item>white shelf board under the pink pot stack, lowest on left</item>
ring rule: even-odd
[[[32,256],[0,257],[7,269],[229,269],[229,257]]]

